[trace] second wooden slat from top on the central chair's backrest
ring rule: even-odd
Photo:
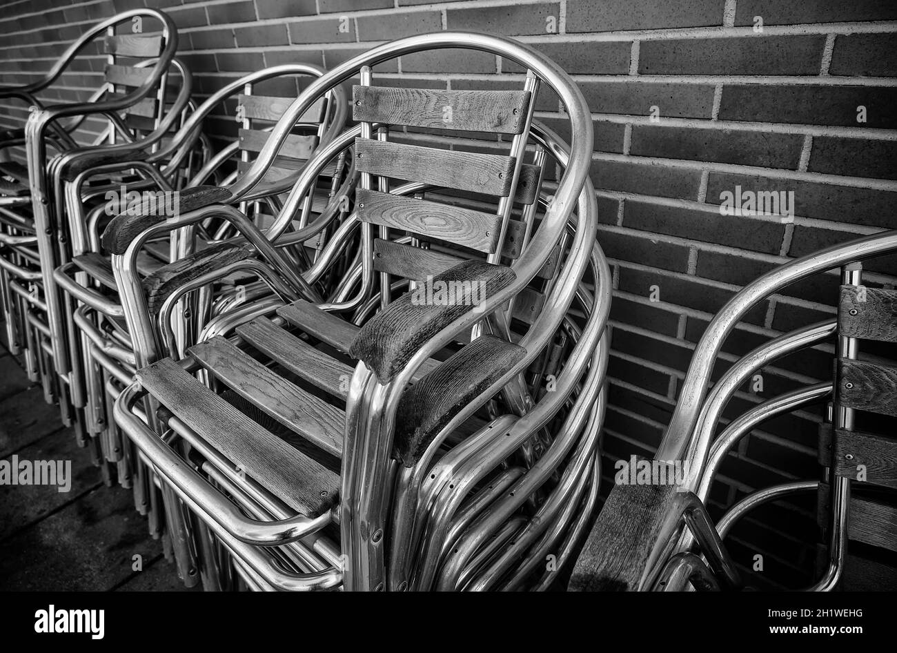
[[[509,156],[452,152],[370,138],[355,139],[355,158],[361,172],[502,197],[508,196],[514,169]]]

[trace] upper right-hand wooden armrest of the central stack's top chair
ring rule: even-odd
[[[506,266],[465,261],[421,282],[361,327],[349,353],[388,383],[422,346],[517,278]],[[440,299],[442,298],[442,299]]]

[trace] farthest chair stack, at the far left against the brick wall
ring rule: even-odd
[[[132,33],[138,24],[147,32],[157,31]],[[35,93],[54,83],[74,57],[99,37],[103,37],[109,57],[102,87],[85,103],[41,105]],[[119,13],[75,41],[39,82],[0,90],[6,97],[32,103],[23,130],[27,168],[11,162],[0,164],[4,177],[0,185],[0,285],[9,343],[14,353],[24,354],[30,379],[42,382],[48,402],[58,401],[64,422],[74,422],[79,428],[60,337],[65,316],[60,314],[52,291],[52,271],[66,260],[69,250],[64,228],[65,179],[104,163],[139,158],[137,152],[145,156],[184,117],[191,84],[182,65],[177,65],[181,91],[171,102],[165,96],[177,45],[177,30],[165,13],[152,9]],[[81,147],[74,137],[89,116],[108,118],[109,124],[91,146]],[[50,152],[56,153],[50,157]],[[112,181],[118,184],[118,179]],[[101,188],[91,191],[79,199],[97,201]]]

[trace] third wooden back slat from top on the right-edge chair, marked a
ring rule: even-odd
[[[838,429],[834,448],[837,475],[897,488],[897,440]]]

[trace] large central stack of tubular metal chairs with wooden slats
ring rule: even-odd
[[[372,84],[371,66],[441,48],[506,57],[527,70],[522,88]],[[339,65],[289,112],[355,75],[358,124],[303,173],[338,152],[360,172],[353,213],[302,275],[304,298],[274,283],[289,271],[259,248],[276,308],[260,300],[233,337],[162,358],[134,272],[161,225],[112,257],[128,328],[146,335],[116,422],[189,510],[210,588],[546,588],[588,523],[600,478],[611,280],[595,241],[588,106],[532,48],[440,32]],[[561,98],[569,146],[533,123],[540,85]],[[402,126],[457,138],[451,149],[390,140]],[[275,128],[262,156],[285,133]],[[555,166],[561,177],[543,188]],[[265,170],[253,165],[242,183]],[[300,178],[284,210],[307,186]],[[280,246],[327,226],[288,233],[278,219],[266,235]],[[559,561],[546,570],[548,555]]]

